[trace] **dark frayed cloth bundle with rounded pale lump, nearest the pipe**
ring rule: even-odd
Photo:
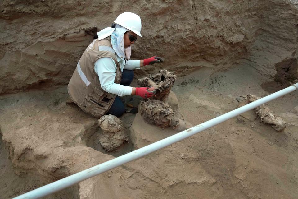
[[[148,124],[154,124],[162,129],[172,127],[175,130],[185,129],[185,123],[174,116],[174,111],[166,102],[159,100],[143,101],[141,115]]]

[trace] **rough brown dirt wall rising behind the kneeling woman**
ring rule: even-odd
[[[142,19],[143,37],[134,44],[132,58],[166,60],[136,71],[137,76],[161,68],[183,76],[200,67],[230,67],[242,58],[273,77],[272,62],[297,48],[297,7],[290,0],[3,0],[0,94],[66,85],[94,32],[127,11]],[[276,48],[283,51],[280,57],[270,50]],[[269,55],[267,62],[258,62]]]

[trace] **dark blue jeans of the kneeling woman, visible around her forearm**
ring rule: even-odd
[[[120,84],[124,86],[129,86],[133,81],[133,76],[134,76],[133,70],[124,69],[122,72]],[[123,115],[124,112],[125,112],[125,105],[121,101],[120,97],[116,96],[115,101],[113,102],[111,108],[106,114],[107,115],[112,114],[119,118],[121,115]]]

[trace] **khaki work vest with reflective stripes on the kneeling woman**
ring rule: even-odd
[[[93,40],[80,58],[68,83],[67,89],[71,99],[83,111],[96,118],[100,118],[108,112],[116,95],[102,89],[98,75],[94,71],[94,63],[102,57],[112,58],[117,65],[114,82],[119,84],[122,73],[116,56],[110,37]]]

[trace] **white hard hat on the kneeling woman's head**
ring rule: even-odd
[[[138,15],[132,12],[124,12],[120,14],[114,22],[142,37],[142,23]]]

